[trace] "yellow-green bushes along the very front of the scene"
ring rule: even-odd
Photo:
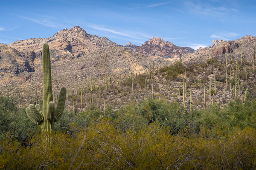
[[[205,138],[189,132],[171,135],[169,128],[143,125],[120,131],[116,124],[103,118],[87,129],[87,140],[74,167],[83,157],[82,169],[254,169],[256,162],[256,130],[236,129],[230,136],[217,130],[216,137]],[[42,149],[40,136],[30,140],[30,147],[17,141],[0,144],[0,168],[5,169],[68,169],[83,138],[57,132],[52,146]]]

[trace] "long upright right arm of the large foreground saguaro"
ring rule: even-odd
[[[59,119],[61,119],[64,106],[65,106],[66,93],[67,93],[66,88],[61,88],[60,96],[58,98],[58,105],[55,109],[54,122],[57,122]]]

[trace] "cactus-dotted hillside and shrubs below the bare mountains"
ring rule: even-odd
[[[255,53],[38,89],[0,94],[2,169],[255,169]]]

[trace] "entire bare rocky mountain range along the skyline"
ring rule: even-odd
[[[102,68],[102,65],[104,65],[103,58],[105,58],[105,63],[109,63],[108,65],[118,63],[115,67],[109,67],[108,74],[124,74],[127,70],[133,72],[145,71],[148,69],[147,65],[153,60],[156,67],[166,66],[175,61],[179,54],[188,65],[204,62],[211,56],[218,59],[225,59],[225,54],[231,55],[231,53],[235,57],[241,56],[241,48],[244,57],[251,59],[253,47],[256,45],[256,37],[248,35],[231,41],[213,40],[209,47],[188,52],[186,47],[178,47],[172,42],[163,41],[160,37],[152,37],[140,46],[130,42],[125,46],[117,45],[106,37],[88,34],[84,29],[75,26],[58,31],[48,38],[31,38],[18,40],[8,45],[0,44],[0,76],[15,79],[21,73],[24,73],[25,77],[29,72],[31,72],[29,77],[33,77],[34,74],[37,75],[37,72],[41,71],[42,68],[41,50],[44,43],[49,44],[53,68],[62,66],[73,69],[80,63],[92,61],[93,56],[95,58],[102,56],[98,60],[93,59],[95,63],[91,63],[91,65],[84,63],[81,66],[81,70],[85,70],[83,74],[79,75],[80,77],[84,77],[88,73],[92,74],[90,69],[99,72],[94,74],[97,77],[105,75],[103,72],[106,70]],[[70,64],[71,66],[68,66]],[[65,71],[72,74],[74,69]],[[62,74],[67,73],[62,72]],[[8,79],[5,81],[8,82]]]

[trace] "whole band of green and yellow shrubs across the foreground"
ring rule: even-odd
[[[255,99],[224,107],[214,104],[206,111],[184,110],[179,103],[150,98],[117,111],[107,107],[104,113],[93,106],[76,114],[65,111],[55,124],[57,132],[49,147],[44,147],[38,130],[28,132],[32,128],[24,125],[37,126],[29,122],[24,110],[12,113],[6,107],[0,103],[0,127],[5,127],[0,168],[8,170],[68,169],[82,142],[87,115],[87,138],[73,169],[83,158],[81,169],[90,170],[240,170],[256,166]],[[26,140],[19,137],[26,133],[32,134]]]

